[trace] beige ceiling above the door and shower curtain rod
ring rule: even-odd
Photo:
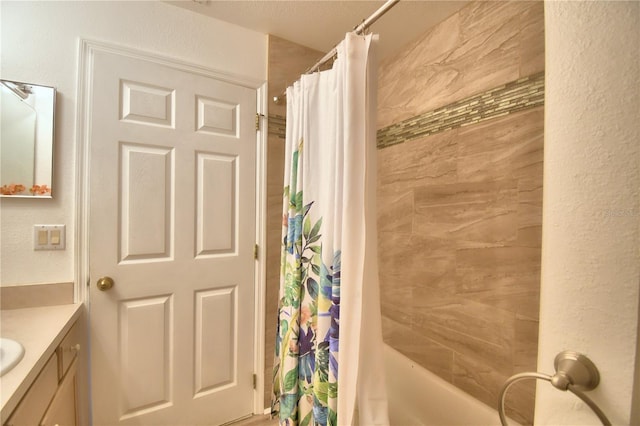
[[[168,3],[327,52],[384,1],[182,0]],[[379,59],[397,52],[466,3],[401,0],[371,26],[372,32],[380,34]]]

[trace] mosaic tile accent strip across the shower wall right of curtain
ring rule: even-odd
[[[544,72],[523,77],[380,129],[377,134],[377,146],[379,149],[386,148],[540,105],[544,105]]]

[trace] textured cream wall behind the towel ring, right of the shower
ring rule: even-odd
[[[638,425],[640,3],[545,2],[545,27],[539,368],[586,354],[600,371],[589,396],[611,423]],[[536,424],[600,422],[540,386]]]

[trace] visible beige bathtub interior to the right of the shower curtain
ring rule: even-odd
[[[392,426],[500,426],[495,409],[384,345]],[[518,425],[509,420],[509,426]]]

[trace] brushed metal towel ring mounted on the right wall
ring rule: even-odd
[[[504,413],[504,399],[507,395],[507,390],[514,383],[525,379],[546,380],[557,389],[573,393],[591,408],[604,426],[611,426],[611,422],[600,407],[583,393],[584,391],[595,389],[598,383],[600,383],[600,374],[595,364],[581,353],[563,351],[556,355],[554,367],[556,374],[553,376],[528,372],[513,375],[504,382],[502,390],[500,391],[498,404],[498,414],[500,415],[500,423],[502,423],[502,426],[507,426],[507,417]]]

